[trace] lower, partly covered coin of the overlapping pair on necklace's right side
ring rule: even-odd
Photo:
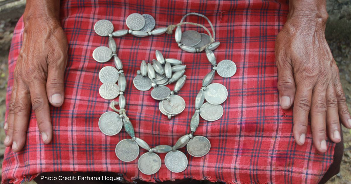
[[[200,116],[206,121],[216,121],[223,115],[222,105],[213,105],[211,103],[204,103],[200,108]]]

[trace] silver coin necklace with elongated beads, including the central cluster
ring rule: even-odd
[[[211,26],[213,35],[203,25],[183,22],[188,15],[197,15],[205,18]],[[115,148],[117,157],[123,162],[131,162],[136,159],[139,156],[139,146],[148,151],[141,155],[138,160],[138,168],[142,173],[152,175],[161,168],[161,159],[156,153],[167,153],[165,165],[168,170],[182,172],[186,169],[188,160],[186,155],[178,149],[187,146],[188,153],[194,157],[202,157],[210,151],[210,141],[204,136],[193,136],[193,134],[199,125],[200,116],[206,121],[216,121],[223,115],[223,107],[220,104],[226,100],[228,91],[222,84],[211,84],[211,82],[216,71],[221,77],[233,76],[236,73],[236,65],[230,60],[223,60],[217,64],[212,50],[219,46],[219,42],[214,40],[215,33],[211,21],[202,14],[188,13],[176,25],[153,29],[155,20],[151,15],[133,13],[127,17],[126,24],[130,28],[129,30],[122,29],[115,32],[113,32],[113,24],[108,20],[99,20],[94,25],[95,32],[98,35],[108,36],[108,47],[96,48],[93,52],[94,60],[103,63],[113,57],[115,65],[115,68],[104,67],[99,72],[99,79],[102,82],[99,94],[107,100],[119,96],[118,102],[112,101],[110,103],[110,108],[117,113],[108,111],[102,114],[99,119],[99,128],[102,133],[112,136],[118,134],[121,128],[124,127],[127,134],[131,136],[131,139],[121,140]],[[182,34],[181,26],[184,24],[200,26],[207,31],[208,35],[194,30],[187,30]],[[191,132],[180,137],[173,146],[158,145],[151,148],[143,139],[135,137],[133,125],[126,114],[126,100],[124,97],[126,78],[122,70],[122,62],[116,54],[117,46],[113,37],[121,37],[127,34],[137,37],[156,36],[164,33],[172,34],[174,28],[176,28],[175,39],[178,46],[190,53],[200,53],[205,50],[207,59],[212,64],[212,70],[205,75],[202,87],[195,98],[195,112],[190,121]],[[181,100],[176,94],[185,84],[186,76],[183,74],[186,67],[181,66],[179,60],[164,59],[158,50],[155,55],[156,60],[152,61],[152,66],[151,63],[141,62],[140,70],[138,70],[133,83],[135,88],[141,91],[146,91],[153,87],[151,96],[155,100],[161,100],[159,103],[160,111],[170,118],[170,116],[184,110]],[[171,66],[172,62],[173,67]],[[178,64],[174,64],[174,62]],[[172,72],[174,73],[172,74]],[[171,80],[174,75],[176,76]],[[116,84],[116,79],[118,85]],[[175,81],[177,82],[173,91],[164,86]],[[204,103],[205,100],[206,103]],[[172,103],[167,104],[170,101]],[[174,105],[174,103],[179,104]],[[119,105],[119,109],[115,108],[115,105]]]

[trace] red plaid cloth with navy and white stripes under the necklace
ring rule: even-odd
[[[6,149],[2,182],[24,182],[38,173],[53,171],[112,171],[123,173],[129,180],[164,181],[182,178],[208,179],[227,183],[317,183],[333,162],[335,144],[320,154],[312,145],[310,127],[304,146],[298,146],[292,134],[292,111],[282,110],[278,102],[277,68],[274,63],[274,41],[288,13],[285,1],[90,1],[66,0],[61,3],[62,26],[69,42],[65,73],[65,103],[51,107],[54,137],[45,145],[32,113],[26,146],[18,154]],[[113,66],[112,60],[98,63],[92,52],[107,46],[108,38],[94,33],[100,19],[112,21],[114,30],[126,29],[125,19],[131,13],[154,16],[156,27],[178,23],[188,12],[205,14],[216,29],[221,44],[214,51],[217,61],[229,59],[237,64],[236,75],[214,82],[224,84],[229,96],[223,105],[223,117],[215,122],[201,120],[196,135],[206,136],[211,150],[204,157],[188,158],[184,172],[172,173],[164,165],[159,172],[144,175],[133,162],[121,162],[115,155],[116,144],[129,138],[124,130],[116,136],[105,136],[98,127],[102,113],[110,111],[109,101],[99,96],[99,70]],[[191,16],[189,21],[206,25],[207,21]],[[9,55],[7,102],[13,85],[13,71],[22,44],[22,19],[14,31]],[[198,28],[195,28],[198,29]],[[184,30],[184,29],[183,29]],[[198,29],[204,32],[202,29]],[[206,55],[180,50],[173,35],[116,38],[117,54],[127,77],[127,112],[136,136],[150,146],[173,145],[190,131],[194,100],[203,77],[210,71]],[[155,50],[165,57],[182,60],[187,81],[180,96],[186,109],[168,121],[158,110],[158,101],[150,91],[138,91],[133,77],[141,60],[151,61]],[[171,87],[172,89],[172,87]],[[146,151],[141,149],[140,155]]]

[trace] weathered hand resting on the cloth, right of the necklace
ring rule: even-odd
[[[340,123],[351,128],[339,70],[325,40],[327,13],[324,7],[299,10],[291,2],[288,19],[276,39],[280,105],[293,105],[293,135],[303,145],[309,114],[314,146],[325,152],[326,135],[338,143]],[[322,4],[323,5],[323,4]]]

